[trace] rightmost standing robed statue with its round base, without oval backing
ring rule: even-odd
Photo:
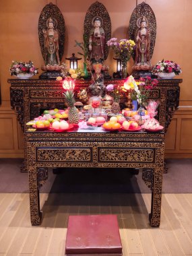
[[[137,19],[139,27],[135,33],[135,65],[133,70],[152,70],[150,61],[150,29],[145,16]]]

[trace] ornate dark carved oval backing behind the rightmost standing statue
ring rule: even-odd
[[[156,17],[150,5],[145,2],[140,3],[135,7],[129,21],[129,38],[136,41],[136,34],[139,29],[139,23],[142,19],[146,19],[147,27],[150,30],[150,59],[154,53],[156,43]],[[135,60],[135,52],[132,54]]]

